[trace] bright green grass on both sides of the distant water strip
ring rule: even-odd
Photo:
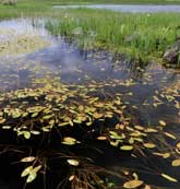
[[[29,3],[27,0],[20,0],[16,5],[1,4],[0,19],[56,17],[58,20],[56,24],[53,22],[47,24],[47,28],[52,34],[79,38],[83,47],[100,46],[142,58],[152,56],[160,58],[166,47],[180,36],[179,13],[131,14],[88,9],[52,10],[52,4],[63,2],[33,0]]]

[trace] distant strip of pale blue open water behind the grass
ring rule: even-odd
[[[88,4],[88,5],[53,5],[55,9],[105,9],[120,12],[132,12],[132,13],[155,13],[155,12],[180,12],[180,5],[136,5],[136,4]]]

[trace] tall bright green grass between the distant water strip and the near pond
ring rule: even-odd
[[[83,45],[101,44],[141,56],[160,57],[168,45],[180,36],[180,14],[133,14],[69,10],[58,22],[49,22],[52,34],[79,38]]]

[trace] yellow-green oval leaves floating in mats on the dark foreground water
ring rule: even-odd
[[[122,84],[113,81],[115,85],[118,83],[124,86],[133,85],[131,82]],[[111,82],[106,82],[106,85],[111,85]],[[107,119],[116,119],[115,128],[104,129],[97,140],[108,142],[109,145],[118,147],[120,151],[128,151],[134,158],[148,158],[148,154],[151,154],[161,160],[168,158],[172,166],[179,167],[179,138],[167,130],[168,125],[164,120],[159,120],[156,127],[142,127],[133,123],[131,117],[127,117],[127,106],[123,104],[121,94],[109,95],[104,87],[105,83],[100,82],[70,85],[56,80],[52,82],[48,82],[48,79],[36,80],[32,88],[16,90],[0,95],[0,127],[13,130],[17,137],[26,140],[32,140],[41,133],[51,133],[53,129],[57,129],[61,133],[60,144],[71,147],[83,145],[83,141],[70,137],[74,127],[82,125],[91,128],[96,121],[104,123]],[[177,95],[171,92],[170,94]],[[63,128],[68,128],[64,133],[62,133]],[[72,188],[77,186],[93,188],[89,180],[94,180],[95,186],[104,187],[104,184],[99,182],[98,174],[106,173],[106,170],[89,165],[89,162],[86,163],[82,157],[62,156],[67,160],[68,165],[73,167],[73,172],[68,178],[72,182]],[[26,182],[32,182],[37,177],[37,173],[40,173],[43,168],[46,169],[43,158],[36,155],[22,158],[22,163],[29,164],[22,172],[22,177],[27,177]],[[82,173],[86,176],[80,176]],[[123,168],[119,173],[123,180],[123,188],[152,188],[142,178],[139,178],[137,173],[134,174]],[[113,175],[113,173],[110,174]],[[158,175],[171,182],[179,181],[178,178],[166,173]],[[87,182],[91,184],[87,185]]]

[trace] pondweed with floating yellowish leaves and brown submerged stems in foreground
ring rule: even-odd
[[[26,184],[34,181],[40,173],[48,172],[49,161],[58,160],[64,167],[64,176],[60,180],[59,188],[65,188],[67,185],[71,185],[72,189],[109,188],[103,181],[103,175],[118,177],[122,182],[120,188],[156,188],[146,184],[139,175],[139,170],[125,167],[120,167],[118,173],[107,170],[94,165],[96,162],[93,156],[83,154],[83,147],[87,149],[84,134],[93,127],[99,130],[97,122],[105,125],[105,128],[95,135],[89,132],[93,140],[105,142],[107,146],[118,147],[122,154],[125,152],[140,162],[154,156],[168,160],[175,167],[180,166],[179,137],[169,131],[166,121],[159,120],[156,127],[141,126],[129,114],[122,94],[109,95],[108,87],[131,87],[134,85],[132,80],[65,84],[59,80],[59,76],[49,76],[33,79],[32,87],[0,95],[1,130],[9,130],[11,134],[16,133],[19,144],[14,146],[14,152],[20,152],[23,146],[26,149],[25,152],[27,149],[29,151],[26,156],[24,153],[20,154],[20,162],[24,164],[21,176],[26,178]],[[166,98],[179,110],[177,94],[178,86],[172,85],[169,90],[164,88],[159,92],[159,98]],[[158,106],[157,98],[154,103]],[[107,120],[115,120],[113,126],[107,126]],[[80,134],[79,129],[83,130],[83,134]],[[57,140],[55,140],[56,133]],[[37,138],[41,139],[38,149],[35,142],[35,145],[29,142],[26,147],[23,144],[24,140],[36,141]],[[55,141],[56,145],[51,144],[51,141]],[[81,151],[73,150],[79,146]],[[96,146],[88,145],[88,147]],[[8,151],[7,145],[4,151]],[[106,158],[106,151],[103,153]],[[152,174],[155,172],[154,174],[170,182],[179,182],[178,178],[163,170],[149,168],[148,172]]]

